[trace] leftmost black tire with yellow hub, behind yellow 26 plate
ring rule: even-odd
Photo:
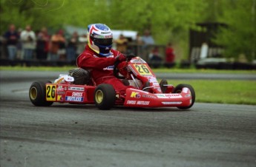
[[[46,100],[46,83],[50,81],[36,81],[30,86],[29,96],[30,101],[35,106],[50,106],[53,104],[52,101]]]

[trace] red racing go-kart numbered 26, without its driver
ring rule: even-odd
[[[96,85],[85,69],[72,69],[69,75],[60,75],[50,81],[36,81],[29,90],[35,106],[50,106],[53,102],[93,104],[99,109],[125,107],[177,107],[189,109],[195,101],[195,92],[189,84],[160,83],[148,64],[140,57],[128,56],[125,77],[120,75],[119,61],[114,64],[114,76],[129,85],[125,94],[115,91],[111,84]]]

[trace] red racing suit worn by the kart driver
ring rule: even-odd
[[[116,92],[124,95],[125,90],[131,86],[125,86],[122,81],[116,78],[113,74],[116,56],[122,53],[112,49],[111,53],[112,54],[107,57],[102,57],[91,50],[90,47],[86,46],[82,54],[76,59],[76,64],[79,68],[88,69],[90,71],[91,77],[96,85],[99,85],[100,83],[111,84],[114,86]]]

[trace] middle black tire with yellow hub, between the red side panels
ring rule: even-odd
[[[96,86],[94,101],[99,109],[111,109],[116,101],[116,91],[114,87],[107,83]]]

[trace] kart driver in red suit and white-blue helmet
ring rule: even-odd
[[[105,24],[88,25],[88,45],[76,60],[79,68],[87,69],[96,85],[108,83],[114,86],[116,92],[125,94],[128,87],[114,76],[116,61],[121,61],[119,67],[124,67],[126,57],[121,52],[111,49],[113,34]]]

